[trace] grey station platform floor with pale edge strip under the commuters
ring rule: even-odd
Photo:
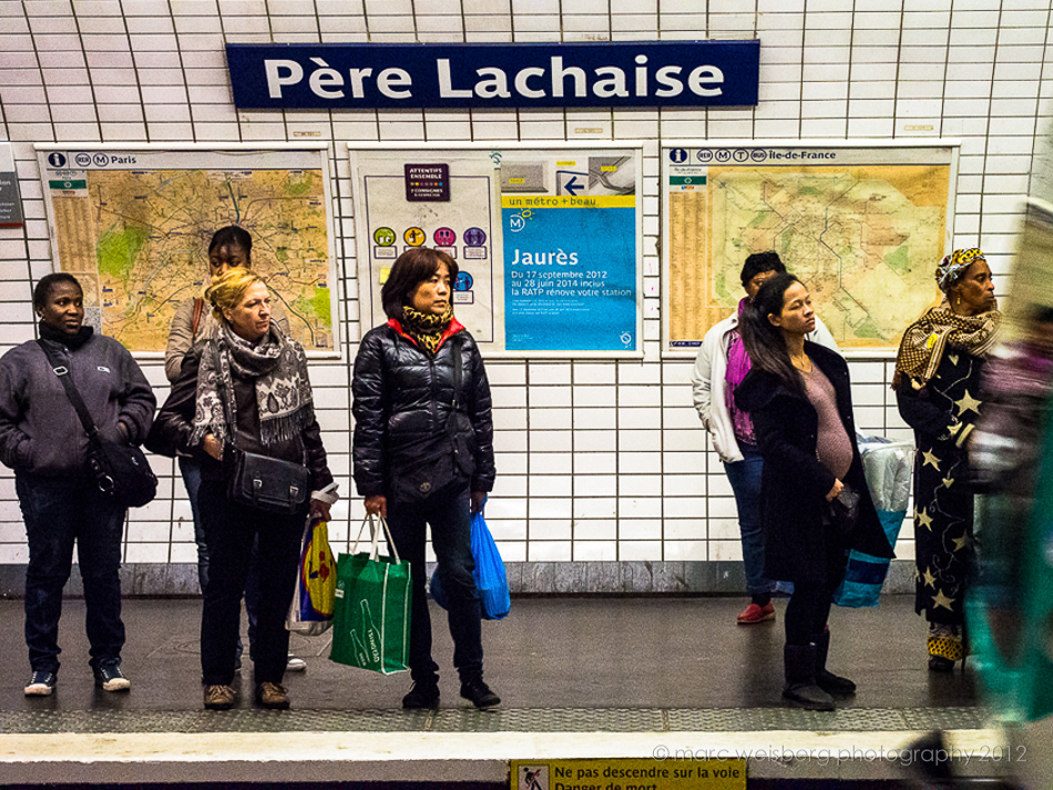
[[[58,688],[37,698],[22,692],[22,602],[0,601],[0,783],[215,781],[222,765],[225,777],[252,782],[508,787],[509,760],[655,756],[744,756],[749,776],[773,780],[890,780],[904,774],[897,750],[933,729],[949,731],[962,753],[1001,748],[974,671],[927,669],[926,627],[910,596],[831,613],[829,667],[859,686],[834,712],[784,707],[786,602],[776,601],[776,622],[738,626],[745,603],[517,598],[505,620],[483,624],[487,680],[502,698],[490,711],[458,696],[444,613],[435,607],[437,711],[401,710],[408,673],[340,666],[327,658],[328,635],[294,635],[307,669],[286,675],[293,709],[256,708],[246,667],[235,709],[219,712],[202,707],[200,601],[125,601],[132,688],[121,694],[94,687],[84,604],[67,601]]]

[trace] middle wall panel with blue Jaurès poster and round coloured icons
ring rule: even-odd
[[[362,331],[408,249],[458,266],[453,309],[504,356],[641,353],[641,150],[349,148]]]

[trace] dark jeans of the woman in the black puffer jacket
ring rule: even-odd
[[[388,500],[388,526],[399,557],[409,561],[413,585],[409,665],[413,680],[439,670],[431,658],[431,615],[425,593],[425,525],[431,525],[436,573],[449,598],[453,666],[461,683],[482,677],[482,615],[476,591],[471,545],[471,494],[467,485],[433,492],[420,501]]]

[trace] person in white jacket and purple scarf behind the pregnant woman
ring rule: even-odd
[[[764,575],[764,534],[760,526],[764,459],[757,448],[753,420],[735,404],[735,389],[750,368],[739,322],[743,310],[757,296],[760,286],[785,271],[786,266],[778,253],[754,253],[746,258],[740,275],[746,296],[738,302],[734,314],[706,332],[691,375],[695,409],[709,432],[713,449],[724,462],[738,510],[746,591],[750,597],[749,605],[738,615],[739,625],[775,619],[771,593],[776,587],[776,582]],[[818,316],[816,329],[808,335],[808,339],[837,350],[834,337]]]

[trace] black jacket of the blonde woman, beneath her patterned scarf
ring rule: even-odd
[[[161,455],[191,455],[201,461],[203,479],[224,480],[226,472],[223,464],[206,453],[200,444],[191,443],[197,407],[197,370],[201,367],[203,348],[203,345],[195,346],[183,358],[180,377],[172,384],[167,400],[154,418],[154,425],[146,439],[146,449]],[[298,437],[275,444],[263,444],[258,440],[259,411],[256,408],[255,386],[251,380],[235,376],[234,390],[238,404],[235,443],[239,450],[303,463],[310,472],[310,484],[315,491],[320,491],[333,482],[317,420],[313,419]]]

